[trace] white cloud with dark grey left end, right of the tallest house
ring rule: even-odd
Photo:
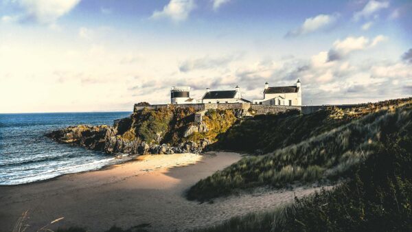
[[[344,56],[352,53],[352,51],[360,51],[375,47],[378,43],[386,40],[387,37],[379,35],[373,40],[369,40],[365,36],[347,37],[344,40],[336,40],[333,43],[332,49],[328,52],[328,61],[341,60]]]

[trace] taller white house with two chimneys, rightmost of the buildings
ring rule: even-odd
[[[302,89],[301,82],[297,80],[295,86],[269,87],[268,82],[264,84],[263,99],[253,100],[253,104],[272,106],[301,106]]]

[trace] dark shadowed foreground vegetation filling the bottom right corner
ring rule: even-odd
[[[378,150],[358,163],[350,181],[293,205],[199,231],[412,231],[412,136],[382,135]]]

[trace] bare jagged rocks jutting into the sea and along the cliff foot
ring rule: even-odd
[[[186,141],[177,146],[163,143],[146,143],[135,139],[130,141],[117,135],[117,127],[112,126],[69,126],[54,130],[47,137],[60,143],[69,143],[90,150],[100,150],[108,154],[174,154],[174,153],[200,153],[210,144],[208,139],[201,139],[197,143]]]

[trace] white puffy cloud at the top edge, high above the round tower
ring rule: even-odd
[[[190,12],[196,8],[194,0],[170,0],[162,11],[153,12],[151,19],[170,18],[174,22],[185,21]]]

